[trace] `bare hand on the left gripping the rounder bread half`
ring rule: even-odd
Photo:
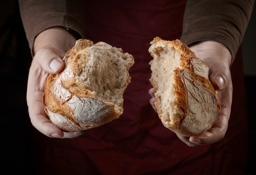
[[[27,105],[32,125],[48,137],[73,138],[86,132],[63,132],[50,122],[42,103],[47,74],[62,71],[62,58],[66,51],[75,45],[75,41],[76,38],[72,34],[60,27],[46,29],[35,39],[35,56],[30,66],[27,85]]]

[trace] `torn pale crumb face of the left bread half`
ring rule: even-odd
[[[132,64],[130,54],[100,42],[81,52],[76,64],[80,73],[75,80],[82,88],[94,92],[93,98],[113,103],[115,110],[122,112],[123,92],[130,82],[128,69]]]

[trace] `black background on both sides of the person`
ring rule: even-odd
[[[255,6],[255,5],[254,5]],[[255,8],[254,8],[255,9]],[[255,162],[255,31],[256,10],[253,11],[242,43],[245,87],[248,102],[249,144],[246,174],[256,174]],[[40,157],[26,104],[27,77],[32,60],[19,15],[18,1],[1,1],[0,5],[0,60],[1,60],[1,163],[2,171],[36,174]]]

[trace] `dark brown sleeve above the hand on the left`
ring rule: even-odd
[[[19,11],[30,49],[43,30],[61,26],[84,36],[81,23],[84,2],[69,0],[19,0]],[[33,55],[33,54],[32,54]]]

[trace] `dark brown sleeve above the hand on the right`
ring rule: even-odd
[[[225,45],[234,61],[247,28],[254,0],[188,0],[181,41],[190,45],[212,40]]]

